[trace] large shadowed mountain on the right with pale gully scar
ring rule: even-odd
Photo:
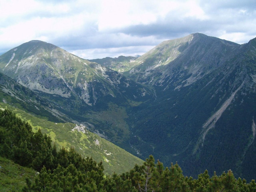
[[[135,112],[131,145],[178,161],[187,175],[231,168],[255,178],[255,43],[195,33],[138,58],[123,74],[153,86],[156,97]]]

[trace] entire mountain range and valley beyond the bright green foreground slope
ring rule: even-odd
[[[194,33],[141,57],[85,60],[38,40],[0,56],[0,99],[196,177],[256,178],[256,38]]]

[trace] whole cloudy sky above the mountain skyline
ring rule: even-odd
[[[43,40],[85,59],[142,55],[190,33],[256,37],[255,0],[0,0],[0,55]]]

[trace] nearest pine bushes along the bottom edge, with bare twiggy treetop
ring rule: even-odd
[[[160,161],[154,163],[153,156],[142,166],[137,166],[121,175],[104,178],[102,172],[87,173],[73,164],[58,166],[54,170],[43,168],[35,182],[27,180],[24,191],[74,191],[74,192],[255,192],[256,183],[252,180],[235,179],[232,171],[220,176],[209,177],[208,171],[198,179],[184,177],[178,164],[164,168]]]

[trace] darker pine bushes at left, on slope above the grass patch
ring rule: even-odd
[[[72,147],[69,150],[63,147],[57,151],[49,136],[43,135],[40,129],[34,133],[28,123],[21,121],[7,109],[0,110],[0,156],[42,173],[43,170],[59,170],[59,167],[62,172],[72,165],[73,169],[83,171],[83,177],[90,178],[88,185],[98,185],[104,177],[102,162],[96,163],[92,158],[83,158]],[[43,174],[40,177],[41,175]],[[29,179],[27,183],[29,186]]]

